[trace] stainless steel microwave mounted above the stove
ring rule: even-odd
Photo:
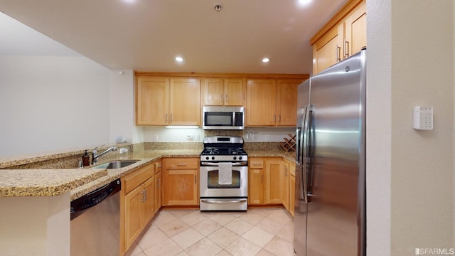
[[[204,106],[203,129],[245,129],[245,107]]]

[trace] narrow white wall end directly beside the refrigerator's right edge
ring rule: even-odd
[[[367,255],[391,255],[391,0],[367,1]],[[407,254],[411,255],[411,254]]]

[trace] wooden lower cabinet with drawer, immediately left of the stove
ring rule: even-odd
[[[199,205],[199,159],[163,159],[163,206]]]

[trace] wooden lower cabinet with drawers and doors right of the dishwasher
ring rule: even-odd
[[[120,194],[121,249],[126,252],[155,214],[154,165],[122,177]]]

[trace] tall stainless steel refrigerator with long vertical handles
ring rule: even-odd
[[[366,255],[366,50],[299,85],[294,250]]]

